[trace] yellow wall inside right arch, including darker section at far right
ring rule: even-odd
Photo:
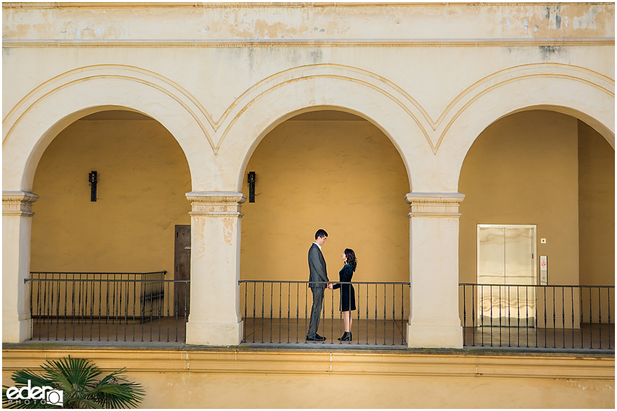
[[[584,123],[542,110],[497,121],[471,147],[459,190],[465,194],[459,209],[461,282],[476,282],[478,224],[535,224],[537,255],[548,256],[548,284],[614,284],[614,150]],[[546,244],[540,238],[546,238]],[[539,266],[537,270],[539,276]],[[574,327],[578,327],[581,295],[577,289],[564,292],[565,326],[572,326],[573,311]],[[587,323],[589,290],[582,294],[583,322]],[[573,307],[568,303],[572,296]],[[555,291],[555,298],[557,327],[561,327],[561,289]],[[591,299],[592,321],[597,321],[597,290],[592,290]],[[552,306],[553,289],[546,290],[546,300]],[[542,312],[542,290],[537,304]],[[552,310],[548,308],[551,327]],[[603,312],[606,321],[607,307]]]

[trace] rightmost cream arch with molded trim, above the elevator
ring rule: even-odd
[[[542,69],[530,70],[529,75],[470,96],[470,101],[450,122],[435,166],[450,174],[447,184],[452,189],[458,186],[463,160],[474,140],[490,124],[516,112],[551,110],[568,114],[596,129],[614,147],[614,84],[586,71],[566,77],[542,73]]]

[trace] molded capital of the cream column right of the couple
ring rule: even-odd
[[[407,216],[458,218],[463,199],[465,195],[460,192],[410,192],[405,196],[410,210]]]

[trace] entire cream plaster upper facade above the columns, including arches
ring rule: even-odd
[[[474,138],[517,110],[614,145],[614,5],[5,3],[3,78],[5,190],[75,113],[117,106],[169,129],[193,190],[237,191],[269,129],[328,106],[391,138],[410,190],[456,192]]]

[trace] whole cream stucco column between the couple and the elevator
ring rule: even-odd
[[[411,192],[411,314],[407,345],[462,348],[459,319],[458,192]]]

